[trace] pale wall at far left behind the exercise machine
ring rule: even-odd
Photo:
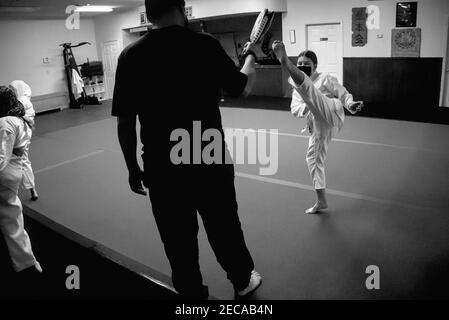
[[[81,64],[97,60],[94,23],[81,20],[79,30],[68,30],[65,20],[0,21],[0,84],[14,79],[27,82],[33,96],[67,92],[61,43],[88,41],[91,46],[73,49]],[[48,57],[50,63],[42,59]]]

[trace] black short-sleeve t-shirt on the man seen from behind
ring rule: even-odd
[[[222,132],[221,89],[239,96],[246,83],[247,76],[211,35],[181,26],[154,29],[120,54],[112,115],[137,115],[145,153],[150,145],[158,157],[172,145],[176,128],[191,132],[200,121],[202,132]]]

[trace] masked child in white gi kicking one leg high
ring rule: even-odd
[[[317,73],[318,61],[312,51],[301,52],[297,66],[288,59],[282,42],[273,42],[273,51],[290,74],[289,83],[293,87],[291,111],[296,117],[307,119],[310,138],[306,162],[317,202],[305,212],[316,213],[327,208],[326,152],[332,137],[343,126],[343,108],[354,114],[361,110],[363,102],[353,101],[352,95],[331,75]]]

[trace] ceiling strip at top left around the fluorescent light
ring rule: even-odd
[[[70,5],[110,5],[114,11],[122,11],[145,4],[144,0],[0,0],[0,19],[61,19],[66,18]],[[33,12],[2,12],[1,7],[39,7]],[[93,17],[107,13],[81,13],[81,17]]]

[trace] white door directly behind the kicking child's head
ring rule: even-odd
[[[307,25],[307,50],[318,57],[318,72],[333,75],[343,83],[343,33],[340,23]]]

